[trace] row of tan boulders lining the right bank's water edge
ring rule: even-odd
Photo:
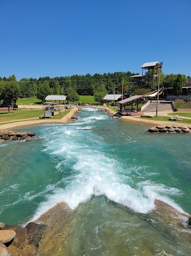
[[[151,127],[149,132],[166,132],[166,133],[189,133],[191,134],[191,125],[156,125],[156,127]]]

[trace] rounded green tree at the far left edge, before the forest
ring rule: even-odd
[[[19,84],[15,80],[10,80],[9,82],[1,81],[0,88],[1,100],[4,101],[8,107],[8,112],[10,112],[10,105],[16,104],[19,98]]]

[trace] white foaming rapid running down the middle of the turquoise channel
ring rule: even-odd
[[[140,179],[134,183],[131,171],[140,167],[124,165],[110,153],[104,152],[102,138],[87,124],[91,122],[94,125],[97,119],[109,117],[104,113],[97,116],[96,110],[85,111],[91,111],[93,116],[87,115],[80,122],[54,129],[51,132],[53,140],[45,140],[44,150],[59,159],[56,171],[62,171],[65,175],[60,180],[63,186],[53,186],[51,194],[45,196],[45,201],[39,205],[33,219],[61,201],[75,209],[93,195],[105,195],[109,200],[140,213],[152,210],[155,207],[154,201],[158,198],[182,212],[169,197],[180,193],[178,189],[167,188],[150,180],[143,182]]]

